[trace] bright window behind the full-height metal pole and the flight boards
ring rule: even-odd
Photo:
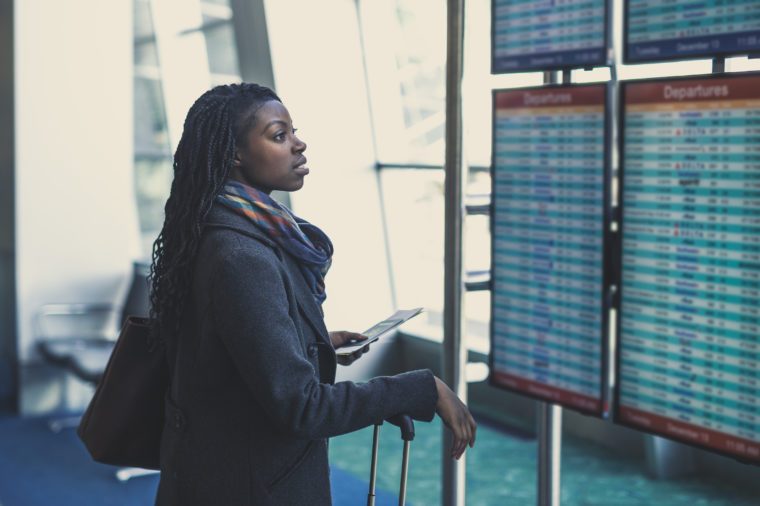
[[[400,307],[424,305],[427,318],[406,328],[442,339],[443,159],[445,128],[446,3],[437,0],[359,2],[371,96],[378,170],[390,242],[394,297]],[[466,203],[490,200],[491,90],[535,86],[540,72],[490,74],[490,0],[466,2],[463,76]],[[615,8],[614,38],[621,47],[622,9]],[[621,61],[616,55],[616,61]],[[735,58],[728,70],[759,69],[760,62]],[[701,74],[708,60],[616,65],[618,79]],[[610,69],[574,71],[574,82],[606,81]],[[470,277],[490,266],[488,217],[468,215],[464,226],[465,271]],[[490,294],[464,298],[470,349],[487,352]]]

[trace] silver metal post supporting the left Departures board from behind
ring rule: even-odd
[[[563,81],[570,81],[564,71]],[[556,72],[544,72],[544,84],[557,82]],[[559,506],[560,455],[562,452],[562,408],[539,403],[538,413],[538,505]]]

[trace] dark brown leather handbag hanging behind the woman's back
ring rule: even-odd
[[[92,458],[159,469],[168,386],[165,347],[151,339],[147,318],[128,317],[77,430]]]

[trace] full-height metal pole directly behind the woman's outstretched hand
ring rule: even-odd
[[[462,353],[462,69],[464,0],[448,0],[446,17],[446,187],[443,290],[443,381],[467,402]],[[443,429],[444,506],[464,505],[464,457],[451,458],[451,433]]]

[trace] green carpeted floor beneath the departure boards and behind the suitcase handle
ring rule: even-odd
[[[412,443],[408,503],[440,504],[441,424],[417,423]],[[397,491],[403,442],[398,429],[381,430],[378,487]],[[333,438],[330,463],[368,479],[372,429]],[[480,424],[474,449],[468,450],[468,506],[536,504],[535,440],[520,439]],[[562,447],[562,505],[603,506],[757,506],[760,497],[720,480],[698,476],[652,480],[644,462],[626,459],[603,447],[565,438]],[[359,504],[359,503],[357,503]]]

